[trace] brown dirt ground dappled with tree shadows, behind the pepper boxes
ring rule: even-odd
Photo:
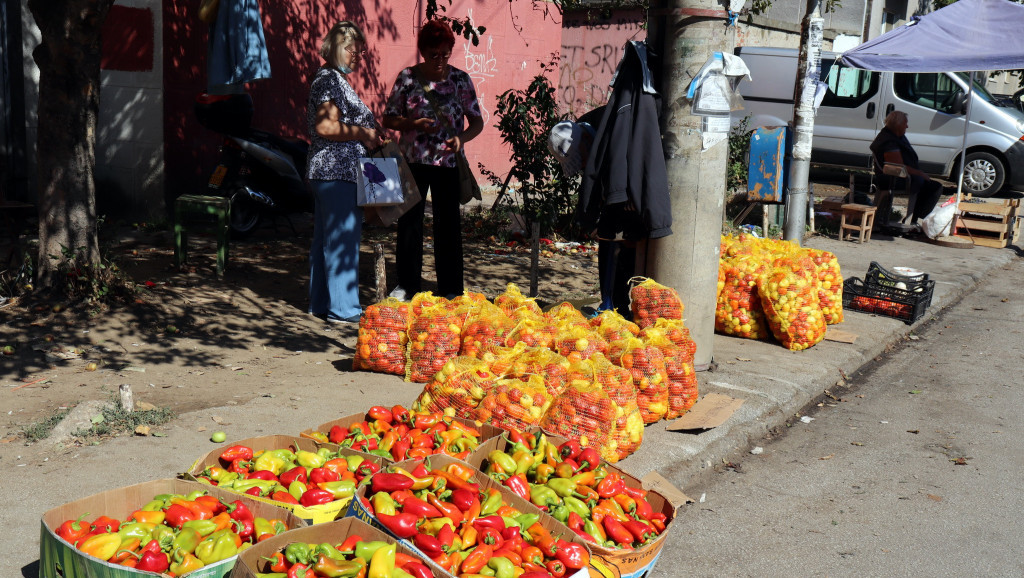
[[[214,238],[194,236],[189,266],[179,271],[170,232],[124,229],[103,244],[138,284],[134,303],[8,301],[0,308],[0,347],[12,345],[14,353],[0,357],[0,460],[52,451],[46,444],[27,446],[25,428],[83,401],[110,400],[122,383],[132,386],[136,402],[184,413],[245,404],[258,391],[284,394],[290,383],[350,371],[356,327],[306,313],[311,216],[293,216],[293,222],[297,234],[282,221],[232,241],[222,280],[215,274]],[[474,214],[464,218],[464,231],[467,290],[493,298],[515,283],[528,291],[525,244],[501,241],[501,233]],[[395,278],[393,241],[393,230],[365,230],[364,304],[374,301],[374,243],[384,248],[388,279]],[[429,238],[426,246],[424,290],[430,290]],[[578,306],[596,301],[596,245],[546,245],[539,298]]]

